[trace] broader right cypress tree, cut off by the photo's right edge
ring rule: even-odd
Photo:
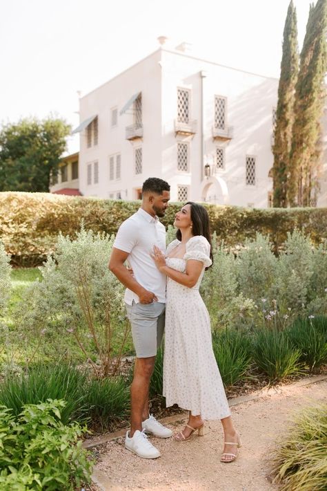
[[[295,91],[288,184],[288,201],[291,206],[312,205],[318,190],[321,115],[326,98],[326,33],[327,0],[318,0],[316,6],[310,6]]]

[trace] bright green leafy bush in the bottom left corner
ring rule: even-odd
[[[61,422],[63,400],[25,405],[15,419],[0,408],[0,488],[73,491],[90,482],[92,462],[81,448],[86,429]]]

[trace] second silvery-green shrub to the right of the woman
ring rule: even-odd
[[[237,280],[241,293],[258,305],[264,297],[271,304],[274,293],[277,258],[268,237],[257,234],[255,241],[246,240],[236,260]]]

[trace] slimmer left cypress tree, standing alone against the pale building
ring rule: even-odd
[[[287,206],[288,168],[292,127],[294,122],[294,95],[299,71],[299,52],[297,46],[297,14],[290,0],[288,6],[281,57],[281,75],[278,86],[278,102],[274,132],[273,189],[274,206]]]

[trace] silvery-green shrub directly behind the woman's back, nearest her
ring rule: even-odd
[[[217,247],[212,237],[213,265],[204,273],[201,295],[208,308],[212,329],[239,326],[247,322],[255,311],[255,302],[238,291],[235,257]]]

